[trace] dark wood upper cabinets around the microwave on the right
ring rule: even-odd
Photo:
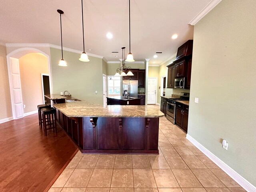
[[[168,65],[167,88],[174,88],[176,78],[185,78],[185,88],[190,89],[193,40],[178,48],[176,60]]]

